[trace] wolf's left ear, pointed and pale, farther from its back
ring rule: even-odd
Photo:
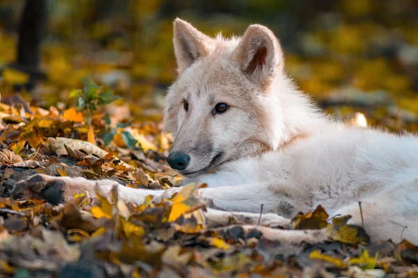
[[[195,60],[208,54],[211,38],[182,19],[174,20],[174,53],[177,72],[182,74]]]

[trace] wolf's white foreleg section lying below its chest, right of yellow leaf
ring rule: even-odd
[[[290,218],[300,211],[311,209],[308,194],[303,196],[297,191],[297,186],[283,181],[202,188],[199,195],[203,199],[212,200],[215,207],[224,211],[260,213],[263,205],[264,212]]]

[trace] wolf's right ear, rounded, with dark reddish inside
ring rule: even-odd
[[[269,28],[258,24],[247,28],[232,58],[261,87],[268,85],[283,70],[279,40]]]

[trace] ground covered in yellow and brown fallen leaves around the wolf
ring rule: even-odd
[[[0,106],[5,277],[418,276],[418,247],[401,234],[393,239],[398,244],[369,243],[362,227],[346,224],[348,216],[330,220],[321,206],[272,228],[325,229],[327,240],[286,245],[256,226],[244,229],[245,219],[233,215],[229,224],[208,227],[206,204],[194,195],[202,185],[195,183],[160,203],[149,196],[141,206],[118,199],[116,190],[104,196],[100,188],[97,198],[79,192],[65,204],[28,190],[14,198],[16,183],[37,173],[114,179],[132,188],[178,184],[181,177],[165,162],[170,138],[160,125],[111,128],[100,109],[78,110]]]

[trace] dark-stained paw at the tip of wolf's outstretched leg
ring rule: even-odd
[[[84,190],[82,184],[72,183],[70,178],[35,174],[16,183],[13,198],[30,199],[38,197],[51,204],[61,204],[74,198],[74,193]]]

